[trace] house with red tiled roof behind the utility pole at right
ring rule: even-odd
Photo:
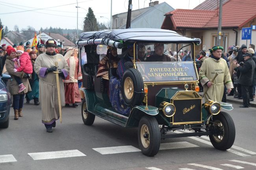
[[[202,44],[196,51],[208,51],[217,45],[218,3],[218,0],[206,0],[195,9],[175,9],[165,14],[161,28],[200,38]],[[246,44],[246,40],[241,40],[241,29],[251,25],[256,25],[255,0],[223,0],[221,46],[225,51],[228,46]],[[249,44],[256,44],[256,30],[252,31],[252,41],[247,40],[247,46]]]

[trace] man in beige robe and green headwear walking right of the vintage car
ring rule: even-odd
[[[221,46],[213,46],[210,49],[211,57],[206,58],[200,68],[199,79],[204,87],[204,91],[207,91],[204,95],[205,101],[210,99],[221,102],[224,85],[228,89],[228,93],[234,88],[229,74],[228,64],[226,60],[221,58],[222,50],[223,47]],[[218,73],[217,77],[214,82],[211,82],[216,73]]]

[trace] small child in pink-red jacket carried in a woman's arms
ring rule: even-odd
[[[17,52],[18,51],[19,50],[17,50]],[[15,69],[13,69],[15,72],[23,71],[24,73],[28,74],[28,76],[30,76],[30,74],[33,73],[33,66],[32,66],[32,63],[30,60],[30,56],[28,55],[27,52],[23,52],[19,58],[13,58],[13,60],[17,60],[17,64],[15,64]],[[20,93],[26,89],[26,87],[23,85],[22,80],[19,77],[15,76],[15,80],[17,81],[17,83],[19,84],[19,87],[20,87],[18,93]]]

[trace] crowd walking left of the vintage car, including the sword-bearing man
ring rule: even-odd
[[[58,66],[55,65],[58,62]],[[78,48],[62,49],[53,39],[37,48],[30,42],[20,42],[19,46],[0,46],[0,73],[9,74],[6,82],[12,96],[14,119],[23,116],[24,99],[26,104],[34,101],[41,104],[42,122],[46,131],[52,132],[59,119],[56,71],[59,70],[61,106],[77,107],[81,102],[78,81],[82,79],[78,63]]]

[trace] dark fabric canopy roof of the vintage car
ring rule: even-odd
[[[172,42],[200,44],[199,38],[188,38],[179,35],[175,31],[154,28],[130,28],[106,31],[91,31],[80,34],[76,44],[79,46],[92,44],[105,44],[121,48],[120,42]]]

